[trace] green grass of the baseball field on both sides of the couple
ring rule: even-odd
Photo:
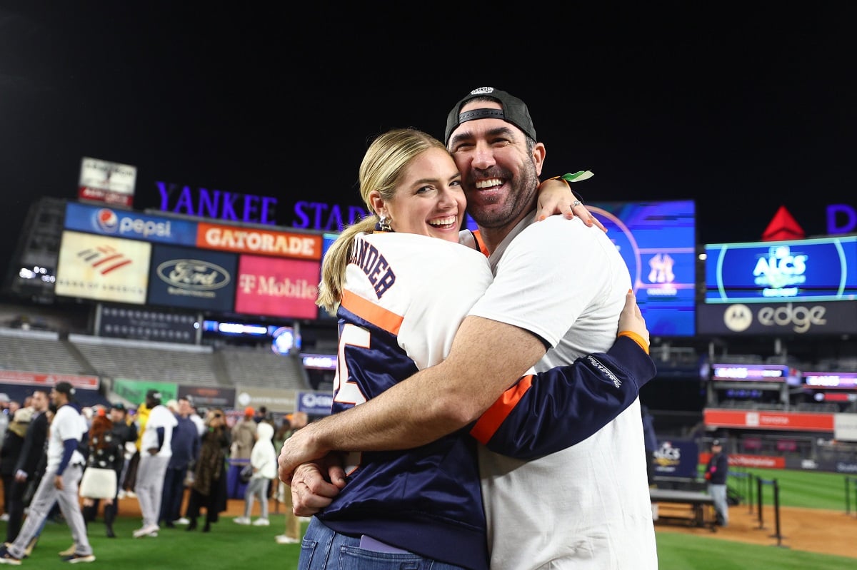
[[[845,487],[842,475],[764,469],[751,469],[750,472],[765,480],[776,478],[780,487],[780,501],[784,506],[844,512]],[[730,484],[733,483],[730,481]],[[770,492],[765,490],[770,487],[764,485],[763,492]],[[770,504],[770,500],[770,496],[764,496],[765,504]],[[139,517],[120,516],[115,525],[117,538],[105,537],[104,525],[100,520],[91,524],[89,537],[97,557],[94,563],[134,570],[297,568],[300,545],[278,544],[274,540],[276,535],[283,532],[283,514],[273,514],[271,525],[267,527],[236,525],[231,516],[224,516],[208,533],[201,532],[201,528],[189,532],[185,531],[185,527],[178,526],[176,529],[162,529],[156,538],[131,537],[131,533],[140,524]],[[0,522],[0,532],[5,534],[5,530],[5,523]],[[63,567],[57,553],[68,548],[71,543],[66,525],[46,525],[33,555],[23,561],[23,567]],[[757,546],[674,532],[658,532],[657,549],[660,570],[854,570],[857,567],[857,560],[854,558],[818,555],[777,546]]]

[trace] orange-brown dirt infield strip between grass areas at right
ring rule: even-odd
[[[660,513],[668,514],[661,505]],[[708,528],[690,527],[674,522],[656,522],[657,532],[685,532],[703,537],[734,540],[741,543],[767,544],[819,554],[857,558],[857,516],[844,511],[826,511],[814,508],[780,508],[780,539],[776,538],[774,508],[762,510],[763,528],[759,528],[758,513],[750,512],[746,505],[729,508],[729,525]]]

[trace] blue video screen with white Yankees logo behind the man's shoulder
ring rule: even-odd
[[[586,205],[631,272],[652,336],[696,334],[696,202],[593,202]],[[470,216],[467,229],[476,229]]]

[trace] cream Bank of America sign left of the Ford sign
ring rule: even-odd
[[[63,231],[54,293],[142,305],[152,244]]]

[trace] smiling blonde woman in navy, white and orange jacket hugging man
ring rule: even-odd
[[[555,184],[567,196],[565,183]],[[334,413],[443,359],[458,324],[492,279],[485,256],[458,244],[464,193],[455,163],[440,141],[413,129],[381,134],[363,158],[360,187],[375,216],[345,229],[334,242],[323,262],[318,299],[328,311],[338,307]],[[647,347],[648,334],[642,318],[634,322],[635,310],[638,315],[631,302],[626,320],[636,325],[635,334]],[[639,377],[654,375],[635,341],[620,339],[617,345],[624,347],[625,365],[636,359]],[[604,354],[599,360],[614,362]],[[630,383],[636,379],[618,371],[611,377]],[[586,382],[595,386],[592,401],[616,398],[612,416],[603,405],[587,407],[578,392],[577,400],[567,395]],[[632,390],[633,398],[620,401],[626,393],[610,392],[618,387],[608,385],[584,359],[526,377],[524,384],[530,389],[520,391],[512,411],[502,411],[501,425],[483,416],[486,424],[474,428],[489,447],[520,457],[580,441],[637,394]],[[561,406],[553,409],[545,403],[550,401]],[[577,407],[566,407],[572,401]],[[527,423],[534,417],[536,427]],[[346,473],[348,482],[339,495],[310,522],[299,567],[338,567],[372,556],[371,551],[389,553],[384,560],[391,568],[416,561],[432,561],[432,567],[444,569],[488,567],[475,440],[467,430],[421,448],[351,454]],[[375,562],[373,568],[386,567]]]

